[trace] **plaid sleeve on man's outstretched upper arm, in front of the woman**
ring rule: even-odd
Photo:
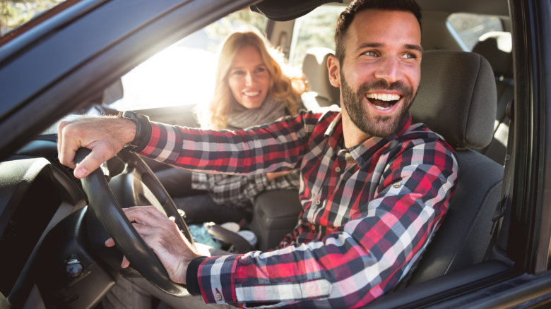
[[[322,116],[304,112],[239,131],[209,131],[151,123],[148,145],[138,154],[190,171],[263,174],[296,169]]]

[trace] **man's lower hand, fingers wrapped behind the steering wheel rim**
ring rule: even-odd
[[[189,241],[178,229],[174,223],[174,217],[165,217],[153,206],[123,208],[122,210],[132,222],[134,229],[159,257],[160,262],[167,269],[170,279],[185,284],[187,266],[194,258],[201,255],[191,247]],[[112,238],[105,241],[107,247],[114,245]],[[121,266],[126,268],[129,265],[130,262],[123,257]]]

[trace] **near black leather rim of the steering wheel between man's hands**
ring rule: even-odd
[[[90,152],[91,150],[86,148],[77,150],[75,162],[82,162]],[[157,255],[150,250],[129,222],[119,202],[114,198],[102,170],[96,169],[82,178],[81,182],[88,197],[88,211],[90,208],[93,210],[107,234],[113,238],[131,265],[161,291],[177,297],[189,296],[184,284],[177,284],[170,279]]]

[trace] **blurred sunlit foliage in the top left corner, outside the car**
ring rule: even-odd
[[[65,0],[0,0],[0,36]]]

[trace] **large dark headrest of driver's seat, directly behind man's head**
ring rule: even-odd
[[[410,108],[413,123],[425,123],[452,147],[486,147],[497,110],[490,63],[475,53],[423,53],[421,83]]]

